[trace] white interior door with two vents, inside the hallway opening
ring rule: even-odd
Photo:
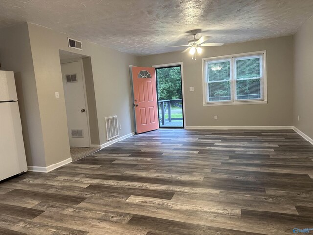
[[[61,64],[71,147],[89,147],[83,67],[80,61]]]

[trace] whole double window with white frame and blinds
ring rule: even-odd
[[[267,103],[266,51],[205,58],[203,104]]]

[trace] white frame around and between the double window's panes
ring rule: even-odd
[[[261,86],[261,99],[255,100],[236,100],[236,61],[237,58],[240,57],[251,57],[256,58],[261,56],[261,65],[260,68],[260,78],[263,79],[263,86]],[[215,61],[227,61],[230,60],[230,83],[231,83],[231,100],[225,101],[208,101],[208,71],[207,64],[208,62]],[[266,70],[266,50],[264,51],[256,51],[256,52],[248,52],[241,54],[233,54],[233,55],[225,55],[225,56],[217,56],[217,57],[209,57],[202,59],[202,75],[203,75],[203,106],[218,106],[218,105],[242,105],[242,104],[267,104],[267,70]],[[241,79],[238,79],[241,80]],[[247,79],[248,80],[248,79]]]

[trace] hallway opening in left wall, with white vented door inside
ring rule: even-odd
[[[99,149],[92,144],[95,140],[91,140],[90,137],[89,123],[92,120],[89,119],[94,117],[89,114],[90,102],[87,100],[87,97],[92,99],[92,94],[94,96],[94,88],[90,86],[90,82],[93,86],[91,59],[88,56],[62,50],[59,53],[70,152],[72,160],[76,161]],[[87,82],[88,86],[86,86]],[[88,96],[87,92],[89,92]]]

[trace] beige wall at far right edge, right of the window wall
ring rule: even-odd
[[[313,139],[313,18],[294,36],[294,116],[293,123]],[[299,121],[298,121],[299,115]]]

